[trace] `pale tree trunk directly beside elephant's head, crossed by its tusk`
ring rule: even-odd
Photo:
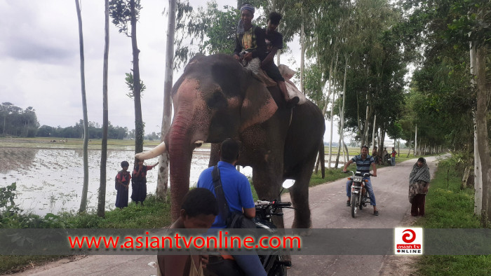
[[[175,9],[176,1],[169,0],[169,14],[167,23],[166,41],[166,76],[163,82],[163,115],[161,127],[161,142],[164,141],[170,128],[170,116],[172,116],[172,101],[170,90],[173,84],[173,64],[174,64],[174,34],[175,34]],[[159,157],[159,172],[157,177],[156,197],[167,200],[169,175],[169,153],[166,151]]]

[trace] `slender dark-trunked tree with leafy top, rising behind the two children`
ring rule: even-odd
[[[119,32],[124,32],[131,38],[131,48],[133,53],[133,99],[135,102],[135,153],[143,151],[143,132],[144,124],[142,119],[141,92],[142,83],[140,82],[140,62],[138,55],[140,50],[137,46],[136,23],[140,17],[140,0],[111,0],[109,1],[109,15],[113,19],[114,25],[119,27]],[[130,35],[128,35],[128,22],[130,23]]]

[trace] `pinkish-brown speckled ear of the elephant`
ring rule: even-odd
[[[255,78],[248,79],[250,83],[246,90],[241,106],[241,131],[258,123],[263,123],[278,110],[271,93],[263,83]]]

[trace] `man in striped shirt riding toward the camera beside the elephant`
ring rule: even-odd
[[[356,163],[356,172],[361,172],[361,175],[365,173],[370,173],[370,165],[372,166],[374,177],[377,177],[377,166],[375,165],[375,160],[373,160],[372,156],[368,155],[368,146],[361,147],[361,154],[358,156],[354,156],[351,158],[346,164],[344,164],[343,172],[347,172],[347,167],[351,165],[351,163]],[[377,205],[375,205],[375,194],[373,193],[372,182],[370,181],[370,177],[367,177],[368,182],[365,183],[365,187],[367,188],[368,195],[370,195],[370,205],[373,206],[373,214],[375,216],[379,215],[377,211]],[[351,183],[353,180],[348,180],[346,183],[346,194],[348,196],[348,201],[346,202],[347,206],[350,206],[351,202]]]

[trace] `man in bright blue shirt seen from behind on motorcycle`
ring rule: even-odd
[[[238,172],[235,164],[238,161],[240,145],[233,139],[226,139],[220,146],[220,162],[217,167],[220,170],[220,179],[222,181],[223,193],[229,211],[242,212],[244,216],[253,219],[256,215],[255,204],[253,200],[253,192],[250,190],[249,180],[245,175]],[[201,172],[198,179],[198,188],[207,188],[215,194],[215,186],[213,186],[212,177],[213,167]],[[216,195],[215,195],[216,196]],[[219,214],[211,228],[226,228],[227,224]],[[264,275],[266,270],[257,254],[255,255],[234,255],[234,259],[245,275]],[[210,260],[211,261],[211,260]]]

